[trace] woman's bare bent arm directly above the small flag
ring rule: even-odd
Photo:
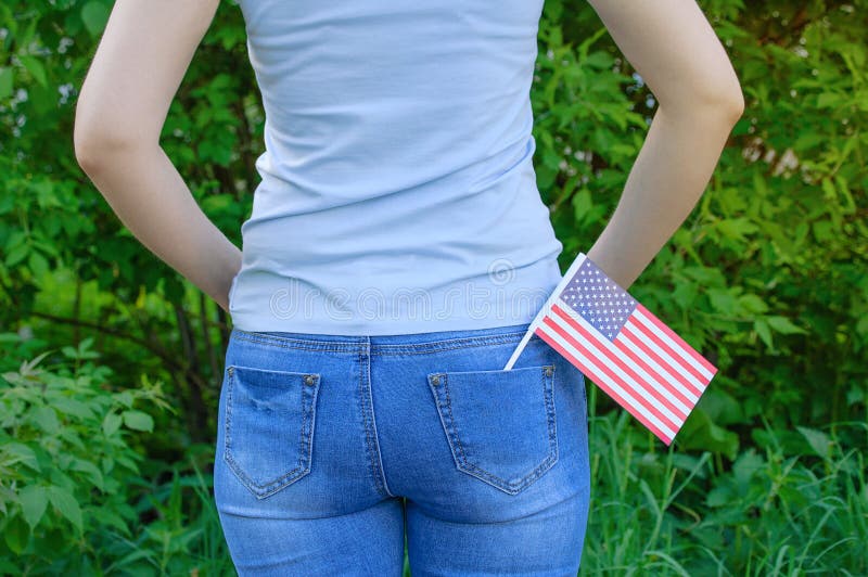
[[[685,221],[744,110],[732,65],[694,0],[588,0],[659,107],[588,257],[627,288]]]

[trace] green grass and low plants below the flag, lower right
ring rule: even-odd
[[[591,414],[597,389],[589,387]],[[753,434],[735,462],[655,441],[625,411],[590,421],[580,575],[866,575],[865,423]],[[803,453],[791,453],[788,445]]]

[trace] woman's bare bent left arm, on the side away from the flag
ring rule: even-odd
[[[117,0],[76,105],[75,154],[122,222],[228,310],[241,251],[159,146],[171,99],[219,0]]]

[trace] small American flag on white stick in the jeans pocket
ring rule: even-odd
[[[536,334],[669,445],[717,369],[579,253],[505,369]]]

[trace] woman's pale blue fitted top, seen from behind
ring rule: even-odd
[[[529,322],[561,278],[536,188],[542,0],[240,0],[266,152],[233,324],[400,334]]]

